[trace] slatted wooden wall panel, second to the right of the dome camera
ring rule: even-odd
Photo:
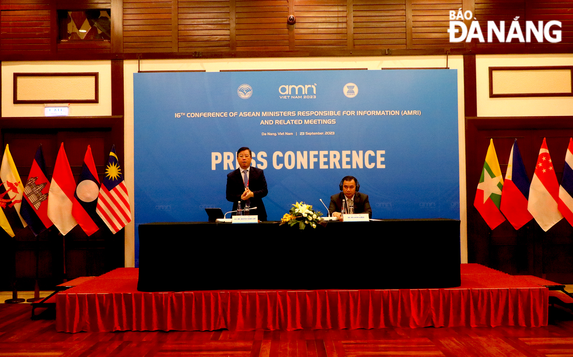
[[[404,0],[354,0],[354,48],[406,48]]]

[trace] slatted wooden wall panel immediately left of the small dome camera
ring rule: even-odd
[[[287,0],[237,0],[237,51],[288,50],[288,15]]]

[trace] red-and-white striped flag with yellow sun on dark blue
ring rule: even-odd
[[[116,234],[125,224],[131,222],[129,197],[123,181],[123,174],[119,168],[119,161],[115,154],[115,145],[109,152],[105,176],[97,199],[97,214],[104,220],[109,230]]]

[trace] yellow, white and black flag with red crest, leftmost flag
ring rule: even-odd
[[[2,186],[0,186],[0,207],[2,207],[0,226],[4,228],[7,234],[14,236],[19,230],[28,226],[28,223],[20,216],[24,185],[20,180],[20,175],[7,144],[0,166],[0,180],[2,180]]]

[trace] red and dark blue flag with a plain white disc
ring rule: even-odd
[[[92,148],[88,145],[88,150],[84,156],[84,165],[81,166],[80,180],[77,183],[76,192],[74,192],[74,200],[72,200],[72,215],[88,236],[100,229],[95,223],[99,221],[99,216],[96,214],[96,200],[99,190],[100,180],[97,179]]]

